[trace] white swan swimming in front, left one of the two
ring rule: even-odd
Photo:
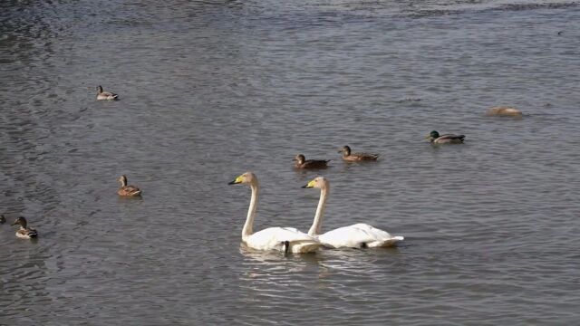
[[[246,224],[242,229],[242,241],[248,247],[257,250],[279,250],[286,254],[288,251],[295,254],[304,254],[313,253],[322,245],[313,236],[306,235],[294,227],[268,227],[254,233],[252,228],[254,226],[254,217],[256,216],[258,196],[257,177],[252,172],[246,172],[229,183],[229,185],[234,184],[248,184],[252,189]]]

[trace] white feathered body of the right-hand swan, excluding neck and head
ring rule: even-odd
[[[364,223],[339,227],[323,235],[317,235],[316,238],[323,245],[332,248],[388,247],[404,239],[403,236],[392,236],[386,231]]]

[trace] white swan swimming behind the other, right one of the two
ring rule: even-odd
[[[339,227],[320,235],[330,184],[324,177],[316,177],[304,186],[304,188],[311,187],[320,189],[320,201],[316,207],[314,223],[310,227],[308,235],[316,237],[323,245],[333,248],[385,247],[395,245],[397,241],[404,239],[403,236],[392,236],[385,231],[364,223]]]

